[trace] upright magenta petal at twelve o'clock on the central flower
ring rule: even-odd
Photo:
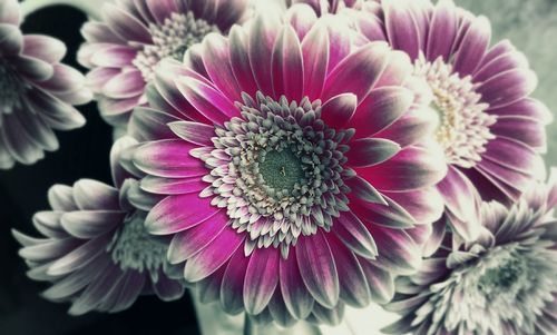
[[[278,35],[272,57],[273,90],[275,97],[285,96],[300,101],[304,89],[304,68],[300,40],[290,26]]]

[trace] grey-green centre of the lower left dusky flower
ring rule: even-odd
[[[166,258],[167,246],[156,240],[144,227],[145,216],[134,214],[115,235],[107,247],[113,259],[121,269],[134,269],[143,273],[147,269],[157,274]]]

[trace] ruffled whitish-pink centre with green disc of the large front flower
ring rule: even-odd
[[[286,258],[300,235],[329,230],[348,210],[343,144],[354,130],[329,128],[319,100],[243,98],[236,104],[242,117],[215,128],[215,148],[190,152],[212,168],[203,179],[212,186],[202,196],[227,208],[233,228],[247,231],[246,255],[274,246]]]

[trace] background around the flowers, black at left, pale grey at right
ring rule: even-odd
[[[260,0],[267,2],[272,0]],[[456,0],[475,13],[487,16],[494,40],[508,38],[521,49],[539,76],[535,96],[557,110],[557,1],[556,0]],[[76,51],[81,43],[79,28],[86,20],[66,7],[45,9],[27,18],[26,33],[57,37],[68,46],[66,62],[78,67]],[[43,300],[47,286],[26,277],[27,267],[18,257],[18,245],[10,229],[35,235],[31,217],[48,209],[47,190],[53,184],[71,185],[79,178],[110,183],[108,152],[111,129],[98,116],[95,104],[79,108],[88,124],[85,128],[60,132],[61,148],[38,164],[0,171],[0,334],[1,335],[155,335],[199,334],[190,298],[162,303],[140,298],[129,311],[117,315],[90,314],[70,317],[68,305]],[[557,122],[548,128],[548,165],[557,165]],[[350,311],[349,325],[324,328],[325,334],[379,335],[379,328],[395,316],[379,307]]]

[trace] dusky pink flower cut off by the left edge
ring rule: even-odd
[[[85,125],[71,105],[86,104],[91,93],[84,77],[60,63],[66,46],[51,37],[22,35],[17,0],[0,0],[0,169],[16,161],[30,165],[55,151],[53,129]]]

